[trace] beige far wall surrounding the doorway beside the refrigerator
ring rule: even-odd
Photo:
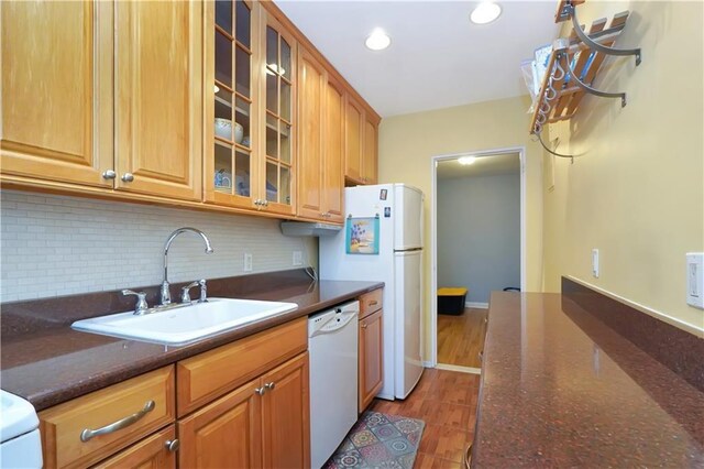
[[[518,77],[518,68],[516,76]],[[518,78],[517,78],[518,79]],[[430,328],[431,159],[442,154],[525,146],[527,159],[526,244],[527,287],[540,291],[542,281],[542,152],[530,140],[526,113],[528,98],[487,101],[382,120],[380,128],[380,183],[406,183],[426,194],[425,315]],[[471,286],[470,286],[471,287]],[[426,360],[430,358],[426,337]]]

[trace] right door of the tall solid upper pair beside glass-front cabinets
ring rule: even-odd
[[[326,89],[324,117],[322,190],[328,221],[341,223],[344,219],[344,91],[331,77]]]

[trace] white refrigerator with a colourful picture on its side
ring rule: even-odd
[[[386,284],[383,399],[405,399],[422,374],[422,192],[405,184],[348,187],[344,229],[320,238],[320,279]],[[348,254],[351,220],[376,216],[378,254]]]

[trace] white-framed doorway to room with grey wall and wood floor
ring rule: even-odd
[[[431,364],[479,373],[492,291],[525,290],[525,150],[432,159]],[[463,296],[463,288],[466,293]]]

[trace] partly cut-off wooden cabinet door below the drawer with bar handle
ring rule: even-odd
[[[112,458],[100,462],[96,469],[168,469],[176,468],[176,452],[167,448],[176,439],[174,425],[144,438]]]

